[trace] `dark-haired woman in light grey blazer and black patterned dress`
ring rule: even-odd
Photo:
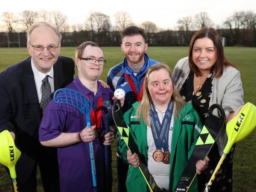
[[[244,104],[240,72],[236,65],[225,58],[221,39],[213,28],[201,29],[193,35],[189,57],[177,62],[172,79],[183,99],[192,103],[199,113],[202,124],[212,104],[218,103],[222,106],[226,113],[226,122],[232,119],[236,112],[240,111],[239,107]],[[223,128],[208,154],[208,168],[198,177],[199,192],[204,191],[205,184],[209,181],[226,143],[227,134]],[[232,192],[234,148],[235,146],[221,166],[221,171],[210,189],[211,192]]]

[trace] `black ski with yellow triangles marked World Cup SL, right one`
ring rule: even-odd
[[[212,114],[212,112],[218,109],[218,116]],[[198,141],[195,144],[195,148],[189,158],[189,161],[180,177],[180,180],[174,190],[174,192],[186,192],[196,176],[195,164],[198,160],[204,160],[212,145],[215,143],[216,138],[221,132],[221,128],[225,123],[225,112],[218,104],[213,104],[208,111],[204,127],[201,131]]]

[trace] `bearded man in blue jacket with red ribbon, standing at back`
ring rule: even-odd
[[[125,91],[125,102],[122,110],[128,111],[132,104],[140,101],[143,95],[143,80],[146,70],[157,61],[150,59],[145,51],[148,48],[144,29],[129,26],[122,31],[121,49],[124,60],[109,70],[107,83],[114,91],[121,88]],[[122,156],[117,151],[118,191],[125,192],[125,181],[128,165],[122,162]]]

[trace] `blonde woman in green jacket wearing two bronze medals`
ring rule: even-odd
[[[181,98],[167,65],[155,64],[148,68],[143,99],[134,103],[124,118],[140,150],[138,157],[136,153],[131,154],[124,141],[119,142],[122,157],[130,164],[126,180],[128,192],[147,191],[145,180],[137,169],[140,160],[148,165],[160,188],[173,191],[202,125],[192,105]],[[206,169],[207,164],[206,160],[198,161],[195,165],[197,173]],[[197,192],[197,182],[193,182],[189,190]]]

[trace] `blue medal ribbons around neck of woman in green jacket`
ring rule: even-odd
[[[173,102],[172,100],[169,102],[168,107],[166,109],[166,113],[163,117],[162,124],[157,115],[157,111],[155,110],[154,103],[150,104],[150,122],[151,122],[151,131],[154,138],[154,143],[158,150],[161,150],[163,147],[163,151],[169,151],[169,127],[172,121],[172,113],[173,113]]]

